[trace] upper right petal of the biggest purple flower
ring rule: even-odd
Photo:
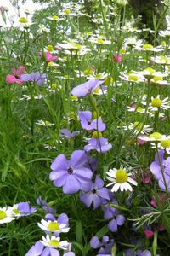
[[[74,169],[82,166],[88,160],[87,154],[84,150],[76,150],[71,154],[71,167]]]

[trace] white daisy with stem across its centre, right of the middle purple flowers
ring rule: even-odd
[[[130,123],[130,125],[126,126],[122,126],[122,128],[127,131],[127,130],[133,130],[134,134],[148,134],[150,133],[150,131],[153,130],[153,128],[150,128],[150,125],[144,125],[142,122],[134,122],[134,123]]]

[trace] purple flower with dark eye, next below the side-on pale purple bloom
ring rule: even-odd
[[[85,130],[105,130],[105,124],[102,119],[99,117],[98,119],[92,120],[92,113],[90,111],[79,111],[78,117],[81,121],[82,128]]]

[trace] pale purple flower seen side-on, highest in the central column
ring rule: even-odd
[[[77,97],[87,96],[103,83],[104,81],[100,81],[99,79],[90,79],[86,83],[74,87],[71,90],[71,95]]]

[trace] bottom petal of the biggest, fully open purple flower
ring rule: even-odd
[[[65,185],[63,186],[63,192],[65,194],[77,193],[80,189],[80,183],[77,181],[76,177],[69,175],[66,178]]]

